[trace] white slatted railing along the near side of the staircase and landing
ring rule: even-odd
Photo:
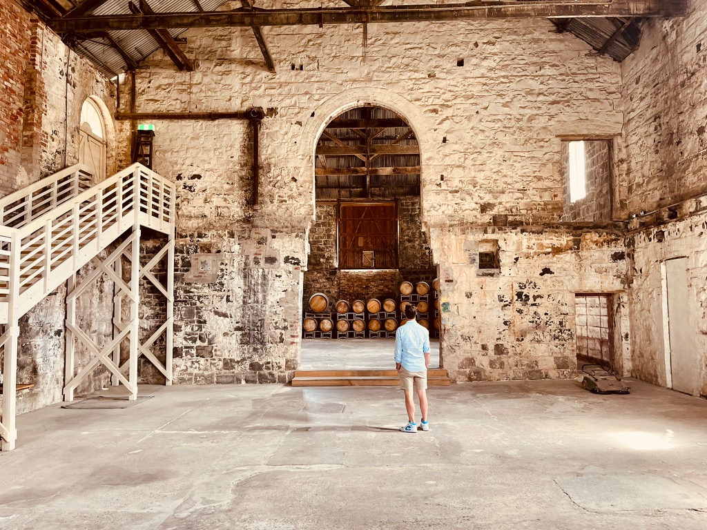
[[[86,262],[88,249],[95,255],[136,223],[163,231],[173,227],[175,202],[175,185],[136,163],[21,228],[0,226],[0,301],[8,300],[6,293],[13,285],[18,285],[20,298],[33,290],[33,301],[36,295],[49,293],[66,280],[66,273]],[[13,241],[19,241],[19,247],[13,247]],[[8,266],[16,254],[18,273],[11,276]],[[23,307],[20,314],[30,307]]]

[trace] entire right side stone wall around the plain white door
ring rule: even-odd
[[[689,5],[684,18],[645,23],[641,47],[621,65],[629,211],[638,216],[627,238],[633,374],[663,386],[661,268],[672,257],[689,259],[691,341],[707,362],[707,4]],[[696,395],[707,394],[704,370]]]

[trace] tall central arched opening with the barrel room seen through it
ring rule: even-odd
[[[431,330],[433,366],[438,366],[436,267],[421,223],[420,165],[414,130],[384,107],[346,110],[320,134],[315,223],[303,284],[303,370],[390,369],[405,301],[426,306],[421,319]],[[404,281],[425,282],[428,293],[403,295]],[[329,302],[325,310],[310,305],[317,293]],[[363,302],[362,312],[356,312],[356,300]],[[380,310],[375,302],[369,305],[371,300],[380,303]],[[393,310],[387,311],[391,300]],[[330,331],[329,324],[322,327],[327,319]]]

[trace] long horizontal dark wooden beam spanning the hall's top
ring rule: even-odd
[[[153,13],[56,18],[59,33],[86,30],[159,30],[233,26],[286,26],[432,22],[488,18],[665,17],[686,13],[686,0],[518,1],[509,4],[425,4],[370,8],[234,9],[208,13]]]

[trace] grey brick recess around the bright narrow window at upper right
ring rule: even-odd
[[[609,221],[612,219],[612,160],[611,141],[584,142],[585,189],[584,199],[570,201],[569,148],[562,143],[563,221]]]

